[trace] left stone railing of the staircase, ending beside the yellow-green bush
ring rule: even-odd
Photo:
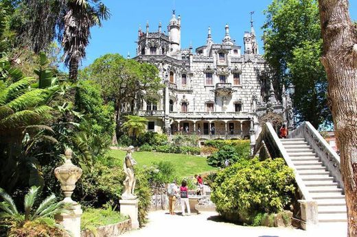
[[[264,145],[266,147],[264,147]],[[282,145],[271,123],[266,123],[262,128],[262,132],[255,142],[254,155],[260,152],[260,149],[264,149],[263,153],[265,154],[267,149],[269,155],[273,159],[284,158],[286,164],[293,169],[295,173],[295,182],[297,183],[297,188],[301,197],[301,200],[299,200],[301,216],[297,216],[297,218],[299,218],[297,219],[299,227],[303,229],[314,228],[319,223],[317,203],[312,199],[310,192],[308,192],[308,189],[303,183],[299,173],[297,173],[297,169],[295,169],[292,160]],[[260,155],[262,154],[260,153]]]

